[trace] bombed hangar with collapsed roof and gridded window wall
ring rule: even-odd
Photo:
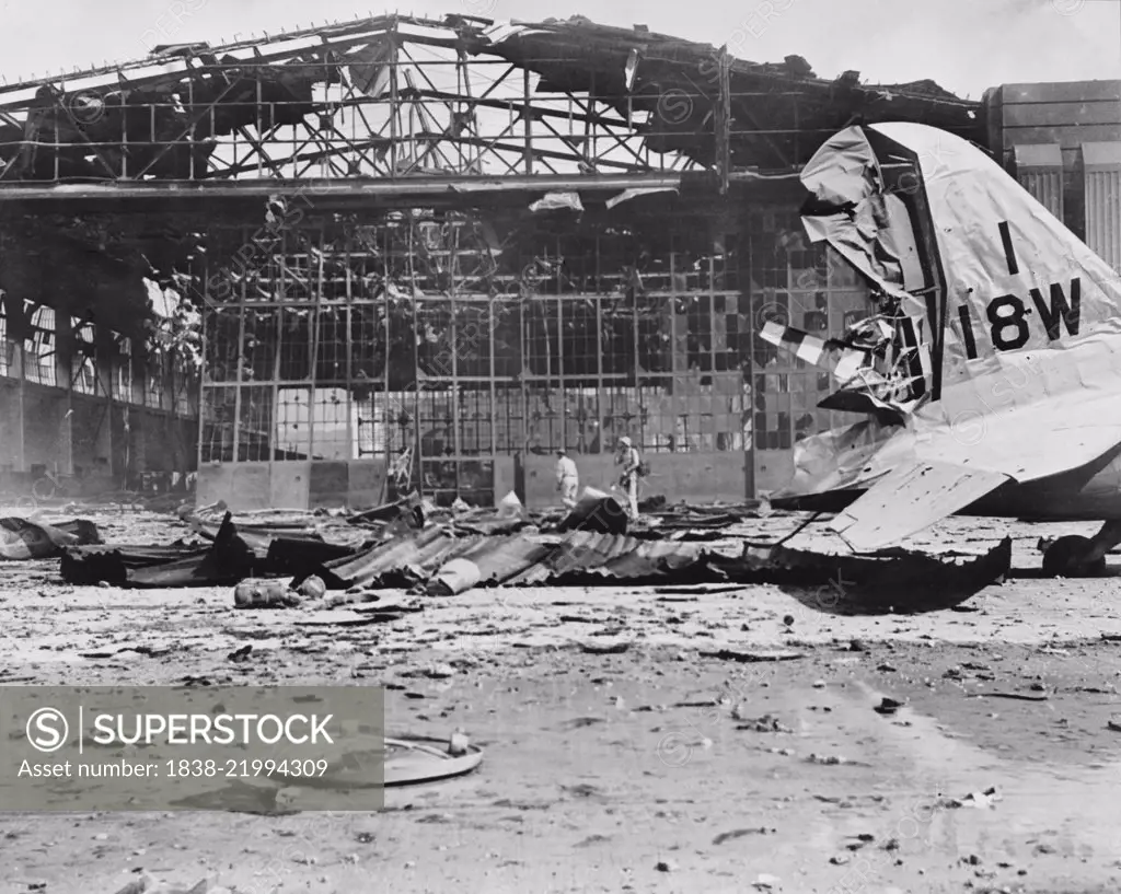
[[[582,18],[380,17],[6,86],[0,464],[196,460],[233,509],[539,505],[557,448],[606,482],[629,435],[670,501],[776,490],[841,420],[759,330],[870,306],[804,239],[798,167],[860,121],[983,143],[980,109]],[[86,397],[100,428],[66,412]]]

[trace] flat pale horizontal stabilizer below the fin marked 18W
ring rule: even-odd
[[[855,552],[899,542],[995,491],[1010,476],[937,462],[897,466],[830,524]]]

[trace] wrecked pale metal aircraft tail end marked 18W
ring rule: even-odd
[[[806,166],[803,208],[879,294],[822,342],[763,337],[830,369],[823,403],[868,413],[806,438],[776,505],[840,511],[874,550],[954,513],[1104,520],[1062,538],[1055,572],[1121,542],[1121,280],[967,141],[921,124],[849,128]]]

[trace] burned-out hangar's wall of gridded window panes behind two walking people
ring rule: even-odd
[[[827,374],[758,332],[836,332],[868,294],[806,242],[795,202],[729,207],[554,220],[502,252],[485,209],[288,234],[211,296],[198,499],[377,504],[404,457],[407,486],[438,503],[512,488],[540,506],[557,448],[610,486],[624,434],[651,466],[647,495],[777,490],[794,444],[846,420],[816,409]]]

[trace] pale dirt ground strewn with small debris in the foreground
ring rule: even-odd
[[[110,541],[183,536],[91,518]],[[1093,525],[952,519],[916,542],[980,552],[1006,530],[1011,580],[911,615],[768,586],[540,588],[314,625],[228,588],[8,565],[0,682],[386,685],[391,735],[461,728],[485,760],[379,813],[0,814],[0,892],[1121,891],[1121,578],[1030,576],[1040,536]],[[776,648],[798,656],[745,660]],[[883,696],[906,705],[881,715]]]

